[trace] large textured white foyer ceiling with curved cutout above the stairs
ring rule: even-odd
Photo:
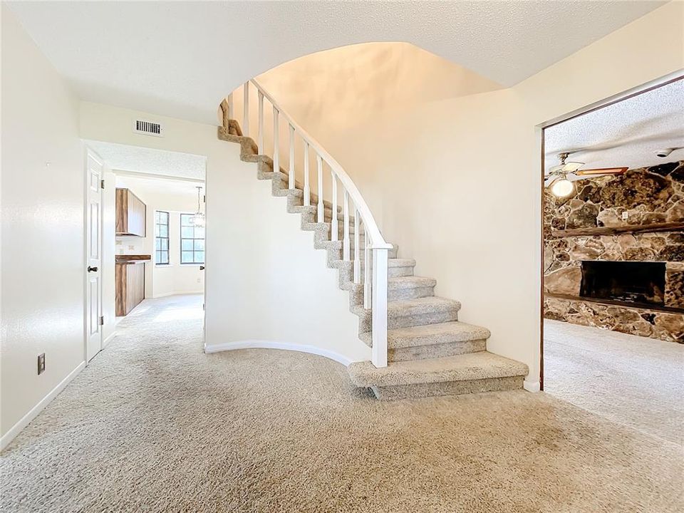
[[[511,86],[664,1],[14,1],[81,98],[215,123],[221,98],[312,52],[405,41]]]

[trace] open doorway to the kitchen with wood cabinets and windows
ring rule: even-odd
[[[88,183],[98,175],[100,220],[93,224],[100,223],[101,244],[99,313],[93,308],[88,316],[98,318],[100,328],[88,337],[90,360],[115,337],[119,323],[154,301],[166,298],[192,309],[193,318],[203,315],[206,158],[99,141],[86,145]],[[87,276],[90,284],[94,274]]]

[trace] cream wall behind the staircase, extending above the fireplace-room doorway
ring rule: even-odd
[[[683,9],[666,4],[506,90],[433,57],[442,76],[460,73],[470,86],[432,93],[433,75],[415,73],[410,98],[385,101],[403,83],[373,73],[345,79],[356,63],[328,62],[343,51],[306,56],[259,80],[346,167],[385,239],[417,259],[416,274],[437,278],[437,294],[462,301],[463,321],[491,329],[491,351],[529,365],[533,389],[541,285],[536,127],[683,68]],[[362,68],[373,68],[363,46],[351,48]],[[336,69],[345,73],[334,83],[296,80]]]

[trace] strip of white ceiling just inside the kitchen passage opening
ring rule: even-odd
[[[113,142],[86,142],[113,170],[204,180],[207,157],[203,155],[152,150]]]

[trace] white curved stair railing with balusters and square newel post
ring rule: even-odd
[[[387,272],[388,272],[388,249],[391,249],[391,244],[385,242],[383,235],[378,229],[378,225],[373,219],[371,209],[363,200],[361,192],[351,180],[349,175],[345,172],[343,167],[330,155],[326,149],[316,139],[311,137],[309,133],[301,128],[298,123],[291,116],[286,113],[276,100],[266,91],[259,82],[252,80],[244,83],[242,86],[242,130],[243,135],[250,135],[249,133],[249,84],[252,84],[257,89],[258,98],[258,115],[257,115],[257,145],[259,146],[259,153],[266,155],[264,146],[264,139],[266,135],[266,125],[264,124],[264,99],[271,103],[273,110],[273,131],[271,138],[273,142],[272,155],[269,155],[274,162],[274,171],[281,169],[280,167],[280,153],[281,150],[287,150],[288,159],[284,159],[289,163],[287,173],[289,175],[288,187],[294,189],[296,187],[296,157],[295,147],[299,141],[304,146],[304,166],[302,174],[304,176],[304,205],[311,204],[310,183],[309,176],[310,165],[309,157],[311,152],[314,153],[316,160],[316,220],[323,222],[324,218],[324,204],[323,197],[325,191],[323,187],[323,165],[330,168],[331,176],[331,241],[338,241],[340,239],[338,230],[338,195],[342,195],[342,214],[343,214],[343,234],[342,234],[342,258],[344,261],[353,262],[353,283],[361,285],[361,226],[365,230],[365,252],[363,262],[363,306],[366,309],[371,309],[371,361],[375,367],[387,366]],[[237,119],[233,107],[233,93],[228,97],[229,118]],[[281,147],[280,138],[280,124],[284,122],[287,124],[289,138],[286,145]],[[351,208],[350,208],[351,202]],[[351,252],[350,232],[350,218],[349,213],[354,212],[354,249]]]

